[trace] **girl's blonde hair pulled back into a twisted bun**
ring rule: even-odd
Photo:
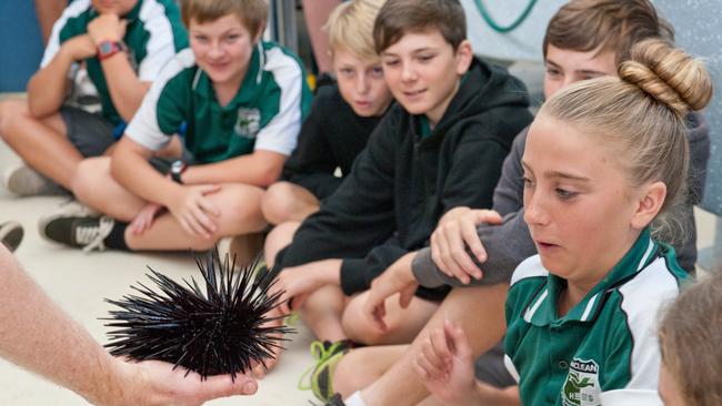
[[[674,215],[686,199],[689,145],[684,116],[712,98],[704,64],[661,39],[632,48],[619,78],[574,83],[555,93],[539,115],[549,115],[614,145],[632,186],[661,181],[666,196],[655,220],[656,236],[683,234]]]

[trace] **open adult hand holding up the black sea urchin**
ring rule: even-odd
[[[255,380],[244,374],[237,374],[235,382],[230,375],[210,376],[202,380],[197,373],[185,376],[185,368],[173,369],[172,364],[160,361],[138,364],[119,358],[114,361],[122,376],[120,396],[116,390],[106,390],[99,402],[104,405],[195,406],[218,397],[252,395],[258,389]]]

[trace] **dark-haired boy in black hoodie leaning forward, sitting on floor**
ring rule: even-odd
[[[501,163],[531,114],[523,84],[472,55],[458,1],[388,1],[374,42],[398,104],[343,184],[275,257],[273,290],[285,291],[301,316],[324,331],[405,343],[445,291],[419,290],[398,323],[377,336],[359,317],[363,296],[349,306],[345,297],[424,246],[450,209],[490,206]]]

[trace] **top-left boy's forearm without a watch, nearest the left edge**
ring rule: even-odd
[[[68,92],[68,72],[72,57],[61,49],[56,58],[32,75],[28,82],[28,106],[36,118],[57,112]]]

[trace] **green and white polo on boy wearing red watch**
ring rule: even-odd
[[[87,33],[88,24],[98,16],[91,0],[71,2],[52,28],[40,67],[44,68],[52,61],[64,41]],[[188,47],[188,34],[173,0],[138,0],[122,18],[128,21],[123,37],[128,57],[143,82],[153,82],[163,65]],[[100,61],[93,57],[86,63],[88,75],[100,95],[103,116],[118,124],[121,119],[110,99]]]

